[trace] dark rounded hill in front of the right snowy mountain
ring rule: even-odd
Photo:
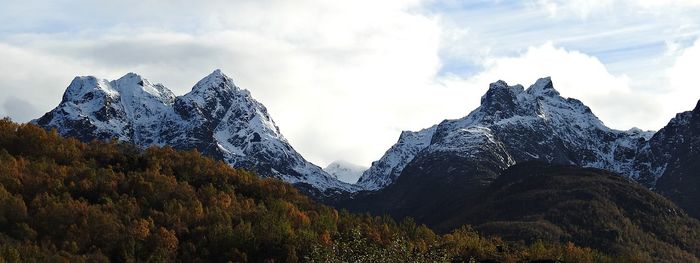
[[[437,229],[465,222],[506,240],[572,241],[654,262],[697,262],[700,222],[663,196],[595,168],[523,163],[478,200],[449,207]]]

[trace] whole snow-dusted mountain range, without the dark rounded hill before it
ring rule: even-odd
[[[678,114],[656,133],[619,131],[606,127],[581,101],[562,97],[550,78],[528,89],[498,81],[469,115],[403,132],[364,172],[344,163],[324,171],[306,161],[266,108],[220,70],[182,96],[134,73],[114,81],[76,77],[61,103],[32,122],[84,141],[116,138],[142,147],[197,149],[295,184],[328,203],[417,219],[530,161],[616,172],[699,217],[699,115],[698,108]],[[358,177],[356,184],[347,183]]]

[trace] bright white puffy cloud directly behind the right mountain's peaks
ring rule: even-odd
[[[483,72],[455,84],[461,82],[456,85],[479,89],[483,94],[495,80],[527,88],[538,78],[551,76],[562,96],[580,99],[610,127],[656,129],[668,122],[657,118],[659,105],[649,94],[634,91],[629,78],[611,74],[595,57],[551,43],[530,47],[516,56],[487,59],[484,66]],[[478,100],[472,98],[470,104],[476,107]]]

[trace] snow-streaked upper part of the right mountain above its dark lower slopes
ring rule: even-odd
[[[492,160],[499,169],[535,160],[602,168],[652,187],[662,166],[651,165],[651,173],[636,168],[648,163],[637,156],[652,135],[606,127],[581,101],[560,96],[550,78],[539,79],[528,89],[498,81],[490,84],[481,105],[466,117],[403,132],[358,184],[380,189],[396,181],[408,163],[457,158]],[[433,167],[444,169],[443,174],[454,171],[449,164]]]

